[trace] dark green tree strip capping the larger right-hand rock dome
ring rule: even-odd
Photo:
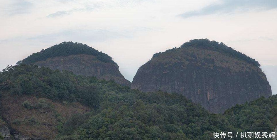
[[[231,55],[235,58],[238,58],[238,59],[241,59],[241,60],[244,60],[250,64],[253,64],[255,66],[258,66],[260,67],[260,63],[258,61],[256,61],[254,58],[251,58],[237,50],[234,50],[233,48],[231,47],[228,47],[227,45],[225,45],[224,43],[219,43],[217,41],[210,41],[209,39],[193,39],[193,40],[190,40],[186,43],[184,43],[183,45],[180,46],[180,48],[186,48],[186,47],[198,47],[198,48],[205,48],[205,49],[208,49],[208,50],[213,50],[213,51],[217,51],[217,52],[221,52],[221,53],[225,53],[227,55]],[[178,48],[172,48],[172,49],[169,49],[169,50],[166,50],[166,51],[173,51],[175,49],[178,49]],[[165,52],[166,52],[165,51]],[[153,58],[159,56],[161,54],[160,53],[155,53],[153,55]]]

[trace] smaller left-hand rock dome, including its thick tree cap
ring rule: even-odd
[[[118,65],[109,55],[82,43],[62,42],[29,57],[17,64],[35,64],[53,70],[67,70],[77,75],[95,76],[98,79],[114,80],[120,85],[131,86],[119,72]]]

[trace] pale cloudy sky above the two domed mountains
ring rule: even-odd
[[[0,0],[0,69],[63,41],[107,53],[133,80],[157,52],[197,38],[277,65],[277,0]]]

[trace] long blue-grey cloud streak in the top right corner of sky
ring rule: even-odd
[[[190,11],[180,14],[183,18],[193,16],[205,16],[210,14],[264,11],[277,8],[276,0],[223,0],[221,3],[206,6],[198,11]]]

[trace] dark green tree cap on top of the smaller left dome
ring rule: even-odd
[[[38,53],[33,53],[22,61],[18,61],[17,64],[25,63],[32,64],[37,61],[46,60],[47,58],[52,58],[56,56],[69,56],[69,55],[77,55],[77,54],[87,54],[96,56],[96,58],[105,63],[114,63],[116,64],[112,58],[98,50],[87,46],[87,44],[82,43],[73,43],[73,42],[62,42],[58,45],[54,45],[45,50],[41,50]],[[116,64],[117,65],[117,64]]]

